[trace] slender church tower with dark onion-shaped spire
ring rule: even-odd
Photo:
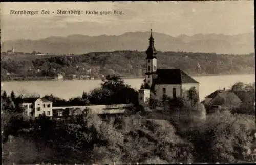
[[[145,84],[147,83],[150,87],[152,85],[154,72],[157,71],[157,58],[156,58],[156,49],[154,46],[154,38],[152,36],[152,29],[149,38],[148,49],[146,50],[146,72],[145,72]]]

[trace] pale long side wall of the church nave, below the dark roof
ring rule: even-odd
[[[173,98],[173,88],[176,88],[176,97],[181,96],[181,85],[180,84],[156,84],[155,92],[158,100],[162,100],[163,98],[163,88],[166,90],[167,97]]]

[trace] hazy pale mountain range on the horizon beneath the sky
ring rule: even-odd
[[[31,53],[32,51],[53,54],[84,54],[116,50],[145,51],[150,32],[127,32],[115,35],[70,35],[51,36],[39,40],[9,40],[2,44],[2,50]],[[185,34],[173,37],[153,32],[155,48],[159,51],[184,51],[218,54],[248,54],[254,52],[254,33],[237,35],[224,34]]]

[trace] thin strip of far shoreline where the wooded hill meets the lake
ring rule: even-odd
[[[255,73],[237,73],[237,74],[190,74],[189,76],[191,77],[203,77],[203,76],[231,76],[231,75],[255,75]],[[122,77],[122,79],[142,79],[144,78],[143,76],[128,76],[128,77]],[[84,79],[87,80],[87,79]],[[93,80],[101,80],[101,78],[95,78]],[[77,80],[36,80],[36,79],[30,79],[30,80],[11,80],[11,81],[1,81],[1,82],[20,82],[20,81],[77,81]],[[90,81],[90,79],[88,80]]]

